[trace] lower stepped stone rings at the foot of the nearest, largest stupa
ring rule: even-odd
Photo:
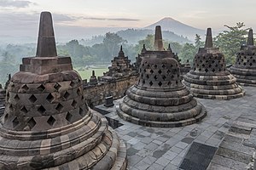
[[[9,148],[12,150],[3,145],[3,143],[0,144],[1,153],[4,152],[5,148],[8,150],[0,157],[1,169],[124,170],[127,166],[124,142],[119,139],[118,134],[111,127],[108,127],[108,122],[105,116],[102,116],[96,111],[91,112],[93,114],[91,120],[96,119],[96,117],[101,120],[101,122],[97,124],[99,127],[96,129],[96,133],[88,133],[88,137],[79,137],[79,135],[81,135],[81,131],[79,130],[86,131],[89,127],[93,127],[94,123],[91,121],[88,123],[88,127],[85,129],[77,129],[78,132],[74,135],[68,133],[66,135],[67,141],[64,141],[65,143],[62,142],[62,150],[54,151],[55,148],[52,142],[56,141],[54,139],[43,139],[42,141],[49,141],[48,144],[52,144],[49,145],[49,147],[46,147],[42,145],[43,142],[41,142],[41,140],[33,140],[31,142],[29,140],[22,141],[3,138],[1,141],[9,143]],[[78,137],[81,140],[80,142],[73,143],[71,137]],[[58,141],[61,142],[62,140]],[[41,144],[39,145],[41,149],[38,154],[35,152],[35,148],[37,148],[35,147],[35,142]],[[13,145],[11,143],[15,144],[17,147],[10,147],[10,145]],[[20,148],[22,146],[21,149],[18,148],[19,144]],[[28,144],[28,149],[31,150],[27,153],[27,155],[30,154],[28,156],[24,154],[20,155],[17,152],[22,149],[25,150],[25,144]],[[47,150],[49,153],[46,154],[45,152]],[[50,152],[50,150],[52,151]]]

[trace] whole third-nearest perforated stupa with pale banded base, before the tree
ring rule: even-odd
[[[183,76],[184,84],[199,98],[234,99],[244,95],[242,88],[226,70],[224,54],[212,47],[212,30],[207,29],[205,48],[199,48],[194,64]]]

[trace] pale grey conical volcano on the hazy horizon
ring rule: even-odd
[[[174,20],[171,17],[166,17],[158,22],[155,22],[150,26],[144,27],[144,29],[154,30],[155,26],[161,26],[162,31],[172,31],[172,32],[175,32],[175,34],[177,35],[188,37],[189,40],[192,40],[192,41],[195,39],[195,34],[198,34],[198,35],[201,35],[201,37],[204,37],[206,32],[205,30],[201,30],[193,26],[183,24],[182,22]]]

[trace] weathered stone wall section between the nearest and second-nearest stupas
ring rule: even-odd
[[[93,108],[96,105],[105,103],[105,98],[112,95],[113,99],[120,99],[125,96],[125,92],[135,82],[137,82],[138,75],[131,77],[123,77],[111,82],[99,82],[97,85],[84,86],[84,98],[87,104]]]

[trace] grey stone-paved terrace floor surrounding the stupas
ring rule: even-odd
[[[125,122],[115,111],[121,99],[115,100],[113,107],[99,105],[97,109],[104,110],[105,114],[109,111],[105,116],[124,124],[115,130],[125,141],[129,170],[253,169],[256,148],[256,88],[244,89],[246,95],[240,99],[198,99],[207,108],[207,116],[202,122],[186,127],[142,127]],[[206,160],[194,160],[193,164],[196,156],[189,158],[191,144],[193,150],[198,143],[209,146],[214,151],[218,149],[214,157],[208,160],[206,166],[211,161],[208,167],[202,166]],[[184,158],[189,159],[194,168],[186,167]],[[200,168],[195,168],[198,165]]]

